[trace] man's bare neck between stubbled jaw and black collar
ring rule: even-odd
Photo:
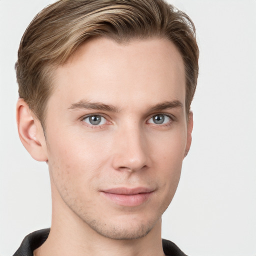
[[[53,191],[52,191],[53,192]],[[46,241],[34,256],[163,256],[161,219],[143,237],[112,239],[97,233],[77,216],[60,198],[52,193],[52,225]]]

